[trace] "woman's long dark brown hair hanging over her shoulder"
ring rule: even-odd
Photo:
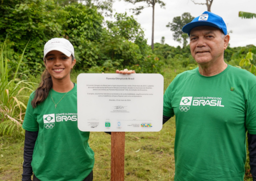
[[[74,56],[71,55],[71,57],[72,57],[72,62],[73,62]],[[36,106],[38,104],[42,103],[47,98],[49,91],[52,89],[52,87],[53,87],[52,76],[46,69],[42,73],[41,82],[39,84],[39,87],[34,92],[35,96],[31,102],[31,105],[33,108],[36,108]]]

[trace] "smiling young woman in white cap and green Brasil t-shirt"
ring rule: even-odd
[[[41,82],[29,98],[22,181],[92,181],[94,152],[89,132],[77,128],[76,84],[70,80],[74,47],[54,38],[44,47]]]

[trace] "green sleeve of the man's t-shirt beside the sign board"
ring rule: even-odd
[[[168,86],[163,96],[163,116],[168,116],[168,117],[174,116],[174,110],[172,108],[172,102],[171,102],[171,94],[172,94],[172,83]]]

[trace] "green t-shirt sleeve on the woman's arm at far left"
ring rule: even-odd
[[[27,103],[27,110],[26,114],[24,117],[24,121],[22,124],[22,128],[26,129],[27,131],[38,131],[39,130],[39,125],[37,122],[37,119],[34,117],[33,114],[33,107],[31,105],[31,101],[34,98],[34,92],[30,95],[28,103]]]

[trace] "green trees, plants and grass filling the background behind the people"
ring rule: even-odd
[[[112,15],[113,3],[114,0],[0,1],[0,181],[21,178],[21,125],[28,96],[36,89],[44,70],[43,47],[49,39],[62,37],[74,45],[77,64],[72,72],[73,82],[79,73],[114,73],[128,68],[137,73],[161,73],[165,90],[177,74],[197,67],[187,45],[188,37],[181,32],[184,22],[193,19],[189,13],[184,12],[167,25],[182,46],[165,44],[162,37],[161,43],[153,41],[152,47],[134,16]],[[106,16],[114,20],[105,20]],[[255,74],[256,47],[229,46],[224,60]],[[174,139],[175,118],[157,133],[126,133],[125,180],[173,180]],[[89,142],[95,151],[94,180],[110,180],[110,136],[94,132]],[[252,180],[248,159],[245,169],[245,180]]]

